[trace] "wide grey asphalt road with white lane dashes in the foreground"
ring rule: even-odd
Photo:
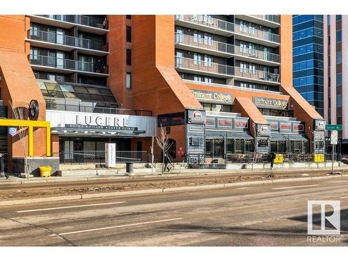
[[[340,200],[334,242],[307,200]],[[348,178],[0,207],[0,246],[348,246]]]

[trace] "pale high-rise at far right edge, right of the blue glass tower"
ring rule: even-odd
[[[324,116],[329,124],[343,125],[338,132],[342,153],[348,152],[347,26],[347,15],[324,15]]]

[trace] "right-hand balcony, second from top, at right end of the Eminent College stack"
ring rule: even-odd
[[[280,45],[280,36],[268,31],[262,31],[251,26],[242,24],[235,26],[235,37],[239,40],[255,42],[260,45],[278,47]]]

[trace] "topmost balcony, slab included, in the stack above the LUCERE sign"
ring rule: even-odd
[[[29,15],[31,22],[48,24],[70,29],[78,26],[80,31],[104,34],[109,30],[106,19],[86,15]]]

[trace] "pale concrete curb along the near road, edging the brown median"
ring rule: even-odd
[[[225,184],[212,184],[212,185],[200,185],[200,186],[191,186],[191,187],[173,187],[173,188],[164,188],[164,189],[144,189],[138,191],[119,191],[119,192],[106,192],[106,193],[94,193],[94,194],[80,194],[72,196],[57,196],[49,198],[29,198],[23,200],[8,200],[0,201],[1,206],[8,205],[20,205],[20,204],[30,204],[30,203],[42,203],[42,202],[53,202],[53,201],[63,201],[63,200],[77,200],[77,199],[86,199],[86,198],[105,198],[110,196],[134,196],[134,195],[143,195],[143,194],[155,194],[155,193],[168,193],[175,191],[195,191],[195,190],[209,190],[209,189],[226,189],[230,187],[244,187],[248,185],[257,185],[257,184],[272,184],[272,183],[285,183],[285,182],[301,182],[306,180],[323,180],[331,179],[335,177],[348,177],[348,175],[332,175],[324,177],[296,177],[283,180],[255,180],[247,182],[236,182],[236,183],[225,183]]]

